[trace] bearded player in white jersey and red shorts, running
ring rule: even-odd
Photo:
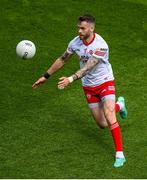
[[[84,15],[78,18],[79,35],[70,41],[66,51],[56,59],[47,72],[34,84],[36,88],[58,71],[67,60],[76,53],[80,59],[80,69],[69,77],[61,77],[58,88],[64,89],[70,83],[81,79],[91,113],[100,128],[109,126],[115,144],[114,167],[121,167],[126,159],[123,154],[122,136],[116,112],[125,119],[127,109],[125,100],[119,97],[115,103],[115,84],[111,64],[109,63],[109,48],[106,41],[95,33],[95,18]]]

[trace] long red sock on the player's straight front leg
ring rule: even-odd
[[[112,134],[113,141],[115,144],[115,150],[123,151],[121,130],[120,130],[120,126],[118,122],[115,122],[114,124],[110,125],[110,129],[111,129],[111,134]]]

